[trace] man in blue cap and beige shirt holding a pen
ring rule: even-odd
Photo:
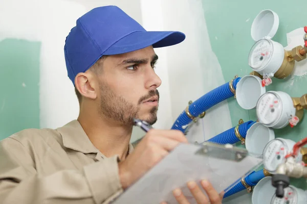
[[[135,149],[129,144],[133,118],[157,120],[161,80],[153,47],[184,39],[180,32],[147,32],[115,6],[80,17],[64,46],[79,117],[56,130],[24,130],[1,141],[1,203],[109,203],[187,142],[179,131],[151,130]],[[188,187],[199,203],[221,203],[206,181]],[[173,194],[188,203],[180,189]]]

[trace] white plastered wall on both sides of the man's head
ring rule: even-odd
[[[41,42],[40,126],[56,128],[78,115],[79,105],[65,69],[63,46],[76,19],[94,7],[117,5],[150,30],[178,30],[186,34],[183,43],[157,48],[157,73],[162,79],[161,103],[156,128],[169,129],[187,106],[204,93],[224,83],[220,65],[208,38],[202,3],[199,0],[2,0],[0,40],[7,37]],[[215,75],[214,75],[215,74]],[[212,80],[214,75],[215,80]],[[57,79],[58,82],[54,83]],[[185,83],[178,83],[179,80]],[[223,126],[216,115],[224,112]],[[230,127],[228,106],[221,106],[191,130],[191,140],[203,141]],[[143,135],[134,131],[134,138]],[[136,137],[135,137],[136,136]],[[198,137],[199,136],[199,137]]]

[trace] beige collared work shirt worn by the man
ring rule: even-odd
[[[109,203],[123,192],[118,162],[101,154],[77,120],[23,130],[0,141],[0,203]]]

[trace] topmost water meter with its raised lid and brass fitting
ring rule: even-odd
[[[288,77],[293,71],[295,60],[306,58],[307,47],[297,46],[288,51],[272,40],[278,26],[278,15],[272,10],[261,11],[252,23],[251,36],[255,44],[250,49],[248,63],[262,75],[264,86],[272,83],[273,76],[278,79]]]

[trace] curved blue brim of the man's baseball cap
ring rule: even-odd
[[[185,34],[177,31],[137,31],[131,33],[109,47],[102,55],[117,55],[133,52],[152,45],[153,48],[178,44]]]

